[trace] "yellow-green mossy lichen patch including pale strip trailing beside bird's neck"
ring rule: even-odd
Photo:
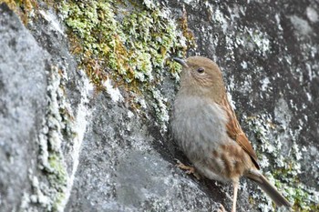
[[[150,90],[155,104],[149,105],[165,131],[168,113],[156,86],[168,70],[179,79],[180,66],[170,57],[184,56],[194,43],[193,36],[185,33],[186,17],[176,21],[169,9],[153,1],[63,1],[57,8],[91,82],[100,89],[111,78],[115,86],[142,96]]]

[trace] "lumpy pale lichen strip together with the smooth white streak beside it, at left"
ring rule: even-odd
[[[66,96],[67,70],[52,66],[48,76],[46,117],[38,136],[38,167],[44,177],[29,173],[33,193],[24,194],[22,208],[31,208],[36,203],[46,211],[63,211],[73,186],[78,165],[78,154],[86,132],[88,103],[91,86],[87,76],[82,75],[81,99],[73,112]],[[77,116],[74,116],[74,115]],[[72,146],[64,153],[63,146]],[[72,157],[67,167],[64,154]],[[67,169],[71,172],[67,172]]]

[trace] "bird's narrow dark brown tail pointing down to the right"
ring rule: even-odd
[[[252,170],[245,175],[246,177],[252,179],[262,190],[273,199],[273,202],[278,207],[292,207],[292,205],[288,202],[288,200],[283,197],[278,191],[277,188],[274,187],[266,177],[262,176],[259,171]]]

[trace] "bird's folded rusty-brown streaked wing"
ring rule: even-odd
[[[220,105],[225,110],[229,119],[226,126],[228,136],[232,137],[234,141],[242,146],[242,148],[248,153],[248,155],[251,156],[253,164],[259,169],[260,167],[257,163],[256,153],[252,149],[251,142],[248,140],[245,133],[242,132],[242,127],[238,123],[237,117],[228,101],[227,95],[223,96]]]

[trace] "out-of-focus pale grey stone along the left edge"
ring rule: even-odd
[[[0,16],[0,210],[17,211],[36,170],[47,55],[5,5]]]

